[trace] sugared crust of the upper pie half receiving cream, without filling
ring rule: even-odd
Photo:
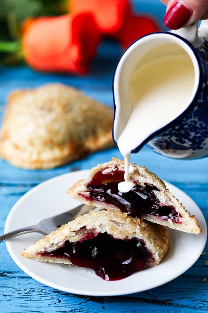
[[[188,211],[185,210],[185,208],[181,205],[181,203],[175,198],[175,196],[170,192],[165,183],[157,177],[154,173],[147,170],[146,167],[141,167],[137,165],[136,163],[132,165],[133,166],[133,172],[131,173],[131,179],[136,182],[139,185],[144,185],[145,183],[154,185],[157,187],[159,191],[154,191],[157,198],[160,200],[160,203],[168,206],[174,206],[176,211],[181,214],[181,218],[179,218],[179,221],[181,223],[173,223],[171,220],[162,220],[159,218],[156,218],[151,215],[143,215],[142,218],[149,220],[153,223],[158,223],[160,225],[167,226],[169,228],[181,230],[186,233],[195,233],[199,234],[201,233],[201,228],[198,225],[198,221],[194,216],[191,216]],[[116,171],[118,170],[124,170],[124,161],[119,160],[117,158],[112,158],[110,162],[105,162],[103,164],[98,164],[97,167],[93,167],[89,175],[86,179],[80,180],[79,182],[75,183],[74,186],[72,186],[68,194],[74,198],[79,200],[82,203],[94,205],[99,208],[118,208],[112,204],[106,204],[101,201],[90,201],[86,199],[83,195],[88,195],[88,189],[87,185],[91,181],[92,177],[99,172],[102,169],[107,168],[107,171]]]

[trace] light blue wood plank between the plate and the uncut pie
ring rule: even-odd
[[[58,167],[53,170],[23,170],[11,166],[6,161],[0,160],[0,184],[38,184],[57,175],[65,174],[74,170],[89,169],[97,163],[103,163],[112,156],[121,158],[117,148],[97,152],[87,156],[81,161],[72,162],[69,165]],[[196,183],[208,186],[207,159],[184,161],[166,158],[152,152],[148,147],[131,155],[132,163],[137,162],[145,165],[150,171],[160,178],[174,184]]]

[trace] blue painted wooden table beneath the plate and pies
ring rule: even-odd
[[[144,3],[145,1],[136,2],[140,11],[145,11]],[[151,6],[148,10],[154,13]],[[157,10],[157,15],[162,17],[164,7],[159,5]],[[113,69],[120,53],[119,47],[113,42],[104,43],[99,49],[98,57],[91,64],[90,74],[81,78],[72,75],[39,74],[27,66],[1,68],[0,115],[3,114],[9,91],[19,87],[36,87],[46,82],[73,85],[112,107]],[[18,169],[0,160],[0,233],[4,231],[7,214],[12,206],[32,187],[60,174],[90,168],[98,162],[110,160],[112,156],[121,157],[117,148],[95,153],[70,165],[39,171]],[[208,159],[196,161],[168,159],[144,147],[138,154],[132,155],[132,162],[147,166],[162,179],[185,191],[196,201],[208,221]],[[0,251],[2,313],[208,312],[208,281],[206,282],[208,246],[196,264],[172,282],[146,292],[120,297],[88,297],[54,290],[33,280],[20,270],[9,256],[5,243],[0,244]]]

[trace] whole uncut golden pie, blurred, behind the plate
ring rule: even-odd
[[[80,91],[48,84],[10,94],[0,155],[23,168],[52,168],[109,146],[113,111]]]

